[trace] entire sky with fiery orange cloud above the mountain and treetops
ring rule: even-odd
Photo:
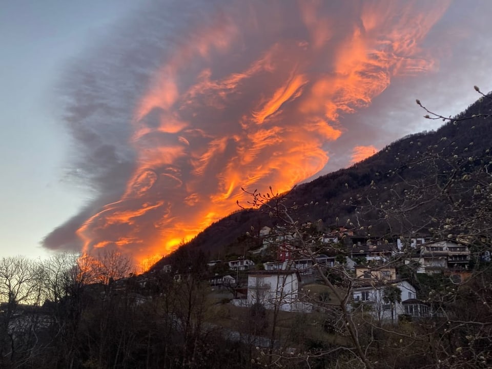
[[[487,0],[6,1],[0,256],[166,255],[492,89]]]

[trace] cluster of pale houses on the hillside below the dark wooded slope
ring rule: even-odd
[[[457,282],[469,274],[470,250],[467,245],[453,241],[411,237],[381,242],[341,229],[318,237],[317,250],[323,253],[309,255],[305,247],[296,246],[292,234],[264,227],[259,235],[262,244],[251,254],[264,255],[273,248],[275,256],[273,260],[256,264],[247,257],[227,261],[231,272],[247,272],[246,288],[241,286],[244,294],[234,299],[234,304],[260,303],[267,309],[302,312],[320,309],[322,302],[313,301],[303,286],[320,283],[319,271],[343,270],[352,280],[352,309],[378,319],[420,318],[438,312],[417,299],[415,286],[397,274],[397,267],[406,265],[418,274],[447,274]],[[213,260],[209,265],[218,262]],[[240,285],[238,278],[239,274],[230,273],[214,276],[210,282],[214,288],[227,285],[233,289]]]

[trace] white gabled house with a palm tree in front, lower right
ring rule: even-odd
[[[404,302],[417,296],[415,287],[407,281],[387,281],[386,283],[365,283],[353,289],[354,310],[370,313],[378,320],[392,319],[391,303],[384,301],[386,289],[398,288],[401,301],[396,301],[393,309],[394,319],[406,314]]]

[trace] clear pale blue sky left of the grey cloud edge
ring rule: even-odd
[[[39,242],[90,195],[64,181],[70,138],[57,122],[53,90],[66,64],[138,3],[2,1],[0,256],[46,256]]]

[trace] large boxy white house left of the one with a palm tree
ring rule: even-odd
[[[299,301],[301,278],[296,271],[254,271],[248,274],[247,304],[260,303],[267,309],[309,311]]]

